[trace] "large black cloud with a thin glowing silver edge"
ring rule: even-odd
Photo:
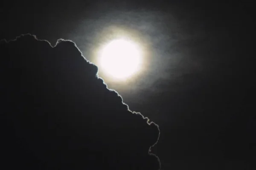
[[[9,169],[157,170],[158,125],[131,112],[70,40],[0,41],[1,162]],[[138,101],[139,102],[139,101]]]

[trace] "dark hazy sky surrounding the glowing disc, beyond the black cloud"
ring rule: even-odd
[[[102,78],[131,111],[159,125],[152,152],[163,170],[255,169],[252,3],[9,1],[0,8],[0,39],[69,39],[91,62],[116,28],[147,46],[140,76],[127,83]]]

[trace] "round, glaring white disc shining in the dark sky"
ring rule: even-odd
[[[99,64],[115,79],[127,79],[139,71],[141,52],[137,44],[125,39],[113,40],[102,49]]]

